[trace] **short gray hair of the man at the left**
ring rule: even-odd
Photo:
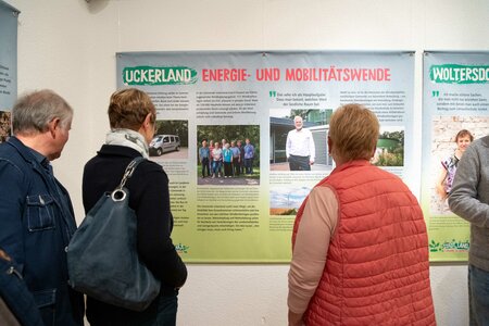
[[[72,106],[50,89],[28,92],[12,109],[12,131],[14,135],[46,133],[53,118],[59,118],[61,127],[65,127],[73,118]]]

